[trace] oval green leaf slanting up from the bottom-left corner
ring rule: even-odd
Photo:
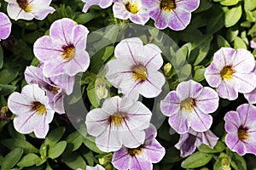
[[[15,150],[11,150],[7,156],[3,158],[3,162],[1,164],[1,170],[9,170],[15,166],[15,164],[20,160],[20,157],[23,154],[23,150],[21,148],[16,148]]]

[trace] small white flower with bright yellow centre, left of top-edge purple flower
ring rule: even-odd
[[[143,7],[141,0],[116,0],[113,3],[113,16],[121,20],[130,19],[140,25],[149,20],[148,10]]]

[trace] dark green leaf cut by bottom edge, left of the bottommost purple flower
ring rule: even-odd
[[[62,161],[64,161],[67,165],[67,167],[70,167],[72,169],[85,169],[86,163],[82,156],[79,154],[73,152],[73,153],[64,153],[62,155]]]

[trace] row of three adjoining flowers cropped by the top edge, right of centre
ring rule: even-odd
[[[113,4],[113,16],[121,20],[130,19],[132,22],[144,25],[149,18],[154,20],[154,26],[172,30],[185,29],[191,20],[191,13],[199,7],[200,0],[83,0],[83,12],[90,6],[99,5],[108,8]]]

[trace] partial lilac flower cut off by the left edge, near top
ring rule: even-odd
[[[0,41],[9,37],[11,32],[12,23],[8,16],[0,12]]]

